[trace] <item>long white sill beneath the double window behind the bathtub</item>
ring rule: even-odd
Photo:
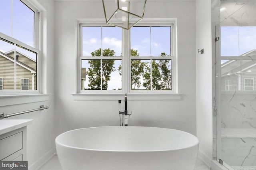
[[[123,100],[124,94],[72,94],[73,100]],[[128,93],[127,100],[181,100],[182,94],[136,94]]]

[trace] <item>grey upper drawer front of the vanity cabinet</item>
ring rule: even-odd
[[[0,140],[0,160],[22,149],[22,132]]]

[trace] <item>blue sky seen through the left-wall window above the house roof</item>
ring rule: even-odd
[[[34,47],[34,12],[20,0],[0,0],[0,23],[0,32]],[[0,51],[12,49],[12,44],[0,40]],[[16,49],[36,60],[34,53]]]

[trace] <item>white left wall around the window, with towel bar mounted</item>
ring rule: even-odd
[[[37,109],[40,105],[48,106],[49,109],[36,111],[10,117],[7,119],[33,119],[32,125],[27,128],[28,166],[34,170],[55,153],[54,139],[54,1],[31,0],[41,10],[42,18],[42,55],[44,65],[41,82],[42,91],[50,95],[41,96],[0,96],[0,111],[5,114],[17,113]],[[39,3],[40,4],[39,4]],[[47,12],[46,12],[47,10]],[[47,21],[46,21],[47,19]]]

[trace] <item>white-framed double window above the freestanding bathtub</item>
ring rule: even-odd
[[[80,92],[174,92],[173,26],[80,24]]]

